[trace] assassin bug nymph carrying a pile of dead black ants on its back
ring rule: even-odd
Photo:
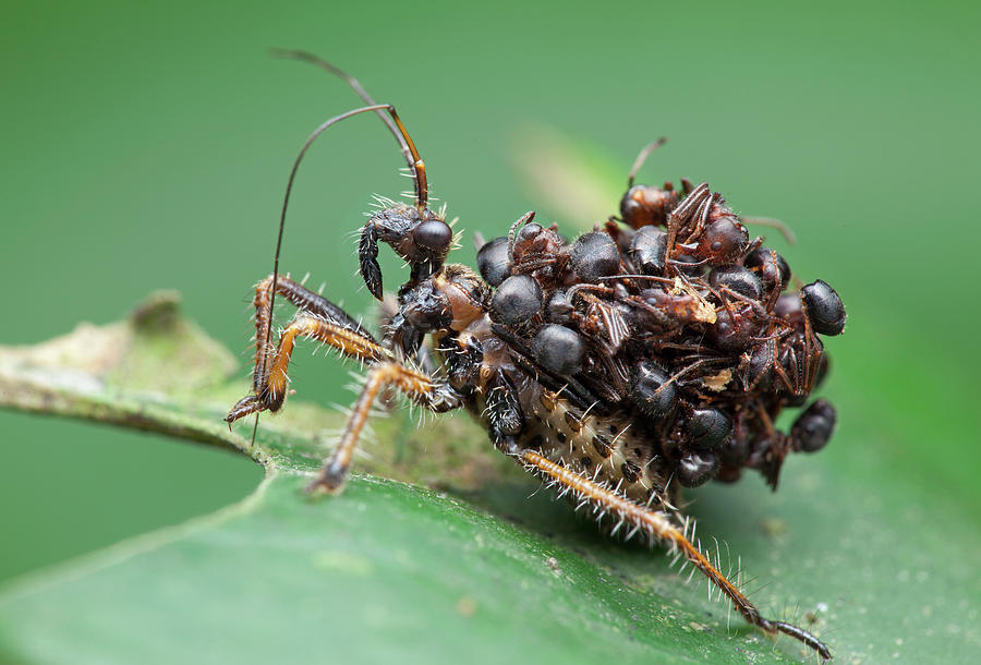
[[[464,408],[501,452],[591,508],[601,523],[610,518],[611,533],[666,545],[747,621],[831,658],[807,630],[764,617],[702,551],[678,506],[681,486],[732,482],[743,469],[758,470],[775,489],[789,452],[827,444],[835,410],[823,399],[789,434],[774,422],[784,408],[803,406],[826,372],[818,335],[845,326],[835,290],[818,280],[788,291],[787,262],[762,238],[750,240],[742,222],[751,220],[707,183],[634,184],[663,141],[634,164],[619,218],[570,242],[528,213],[506,237],[479,241],[480,274],[446,263],[453,232],[427,206],[425,165],[395,108],[375,104],[354,78],[308,53],[279,55],[344,78],[366,106],[317,128],[293,164],[274,270],[255,291],[253,390],[232,408],[229,425],[279,411],[296,338],[317,340],[360,361],[367,377],[311,492],[342,489],[372,402],[386,390],[437,413]],[[385,121],[415,185],[413,205],[386,202],[361,230],[360,273],[372,295],[383,295],[379,243],[409,267],[380,339],[279,275],[287,203],[304,154],[328,128],[364,112]],[[274,344],[277,295],[299,311]]]

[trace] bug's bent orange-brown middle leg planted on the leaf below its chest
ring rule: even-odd
[[[368,372],[367,382],[361,396],[351,409],[340,443],[334,455],[324,463],[317,479],[310,484],[307,492],[339,494],[343,489],[351,459],[358,447],[358,437],[367,421],[372,402],[388,386],[398,388],[414,403],[435,413],[457,409],[461,406],[460,397],[447,384],[434,379],[423,372],[392,361],[375,365]]]

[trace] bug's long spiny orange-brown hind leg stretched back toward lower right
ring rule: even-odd
[[[688,528],[676,525],[667,512],[637,504],[621,493],[610,489],[606,485],[554,462],[537,452],[524,450],[517,454],[516,457],[535,475],[547,482],[561,485],[581,500],[598,507],[600,510],[610,513],[626,525],[632,525],[634,530],[643,532],[652,540],[665,543],[671,551],[680,553],[729,598],[748,622],[756,626],[767,634],[776,634],[777,632],[788,634],[813,649],[825,661],[831,660],[832,653],[827,645],[807,630],[784,621],[767,619],[760,614],[760,610],[746,597],[739,588],[730,582],[697,545],[692,544],[688,539]]]

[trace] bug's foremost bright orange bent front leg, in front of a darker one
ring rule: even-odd
[[[388,350],[376,341],[315,314],[301,311],[282,331],[276,351],[267,351],[256,359],[255,391],[232,407],[225,418],[229,425],[256,411],[279,411],[286,399],[287,370],[298,337],[316,339],[361,362],[378,363],[391,360]]]

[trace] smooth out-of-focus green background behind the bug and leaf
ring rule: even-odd
[[[738,210],[788,221],[795,271],[843,294],[825,391],[848,438],[981,525],[979,16],[968,2],[7,2],[0,343],[118,319],[168,287],[242,351],[244,376],[250,287],[270,267],[290,162],[358,105],[266,55],[304,48],[399,106],[468,231],[499,234],[532,208],[553,219],[513,167],[529,126],[623,173],[667,134],[647,180],[705,179]],[[400,166],[374,118],[325,136],[298,181],[286,269],[367,313],[350,231],[371,193],[407,188]],[[460,254],[472,261],[469,242]],[[347,401],[344,372],[301,354],[294,385]],[[226,452],[9,412],[0,443],[0,580],[208,511],[261,476]],[[823,455],[862,482],[847,450]]]

